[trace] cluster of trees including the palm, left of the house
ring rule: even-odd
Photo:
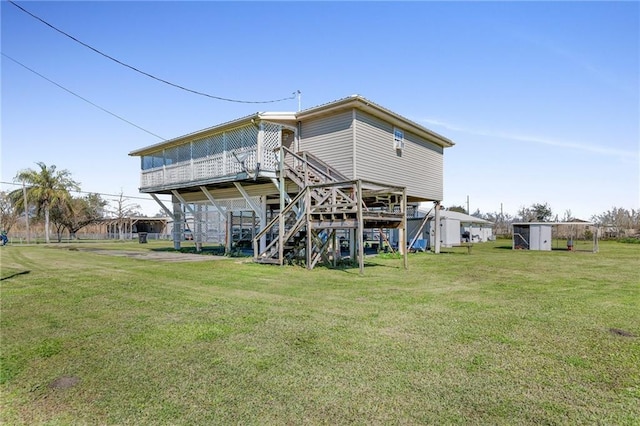
[[[98,193],[73,196],[73,192],[80,191],[80,183],[72,178],[69,170],[58,170],[55,165],[47,166],[43,162],[36,165],[37,169],[16,174],[14,182],[21,182],[22,188],[0,192],[0,227],[6,232],[10,232],[26,212],[29,221],[44,224],[47,243],[52,227],[61,241],[64,231],[74,238],[82,228],[106,218],[117,220],[120,237],[124,238],[125,219],[140,215],[140,206],[129,202],[122,192],[115,207]]]

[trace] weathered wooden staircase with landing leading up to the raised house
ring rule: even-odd
[[[280,148],[279,158],[280,177],[294,182],[299,191],[289,198],[281,189],[284,208],[255,236],[255,262],[297,263],[311,269],[339,256],[339,247],[332,244],[337,230],[397,228],[403,223],[404,213],[395,212],[394,205],[401,204],[404,188],[380,184],[364,188],[363,181],[348,180],[313,155],[285,147]],[[259,251],[265,235],[271,241]]]

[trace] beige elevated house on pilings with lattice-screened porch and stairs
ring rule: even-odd
[[[226,220],[227,249],[244,240],[256,262],[313,268],[335,264],[348,247],[344,256],[362,271],[367,229],[400,230],[406,266],[407,214],[442,200],[443,153],[451,146],[354,95],[255,113],[129,155],[141,158],[140,191],[173,218],[176,248],[189,212],[196,245],[217,216]],[[158,194],[171,195],[173,206]]]

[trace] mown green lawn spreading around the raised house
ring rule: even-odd
[[[0,423],[640,424],[640,245],[364,275],[86,250],[169,244],[2,247]]]

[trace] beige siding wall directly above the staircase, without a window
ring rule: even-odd
[[[315,155],[343,175],[353,175],[352,112],[311,119],[300,126],[300,150]]]

